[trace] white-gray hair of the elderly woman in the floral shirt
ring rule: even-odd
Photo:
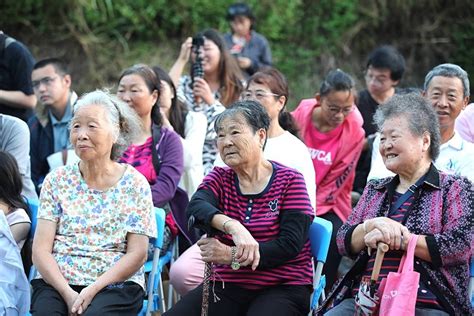
[[[111,133],[116,141],[110,153],[111,160],[117,160],[139,135],[142,123],[130,106],[106,90],[86,93],[74,105],[74,112],[85,105],[99,105],[105,109],[111,124]]]

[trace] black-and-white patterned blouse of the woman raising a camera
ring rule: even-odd
[[[214,104],[209,105],[202,101],[196,103],[191,82],[191,77],[182,76],[179,80],[177,94],[179,100],[184,102],[190,111],[201,112],[207,118],[207,132],[204,140],[204,148],[202,150],[202,162],[204,165],[204,174],[206,175],[212,170],[217,155],[217,134],[214,131],[214,121],[217,115],[224,112],[225,107],[219,102],[221,97],[219,92],[214,94],[214,98],[216,99]]]

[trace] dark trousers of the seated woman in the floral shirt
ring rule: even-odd
[[[41,279],[31,281],[31,285],[32,315],[68,315],[68,307],[55,288]],[[80,293],[85,286],[72,285],[71,288]],[[144,295],[142,287],[135,282],[110,285],[97,293],[82,315],[137,315],[142,308]]]

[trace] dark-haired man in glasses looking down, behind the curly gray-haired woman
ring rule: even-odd
[[[405,59],[398,50],[389,45],[375,48],[367,59],[365,83],[367,89],[359,92],[356,100],[357,108],[362,114],[365,131],[365,142],[359,163],[356,168],[353,190],[362,193],[370,170],[370,140],[377,132],[373,116],[379,104],[390,99],[405,72]]]

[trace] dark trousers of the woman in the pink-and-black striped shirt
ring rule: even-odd
[[[219,298],[214,301],[214,293]],[[211,281],[209,289],[209,316],[303,316],[309,313],[311,286],[279,285],[262,290],[248,290],[231,283]],[[202,284],[186,294],[163,316],[200,316]]]

